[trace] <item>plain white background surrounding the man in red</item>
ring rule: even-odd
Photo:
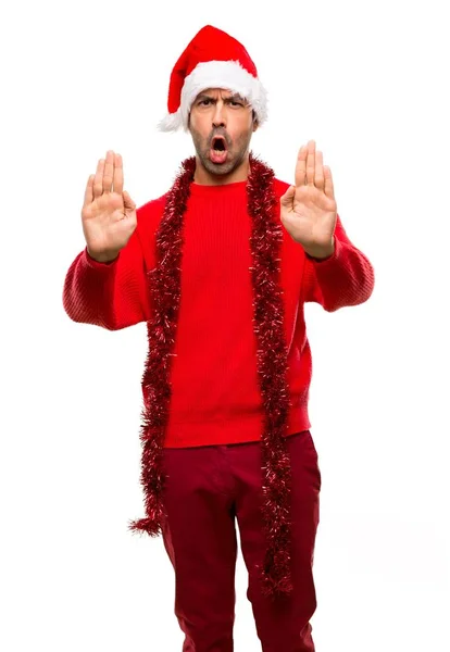
[[[87,177],[122,153],[138,205],[193,153],[157,130],[211,23],[270,91],[253,151],[293,179],[314,138],[368,302],[307,306],[323,477],[317,652],[450,650],[449,115],[445,2],[15,2],[2,9],[1,568],[5,652],[182,650],[162,539],[133,536],[146,330],[71,322]],[[236,652],[259,644],[241,556]],[[283,651],[284,652],[284,651]]]

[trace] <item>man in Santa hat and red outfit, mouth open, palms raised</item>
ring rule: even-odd
[[[235,521],[263,651],[313,651],[321,473],[303,304],[366,301],[373,267],[345,233],[314,141],[292,186],[250,152],[266,93],[236,39],[201,29],[175,64],[167,108],[161,128],[188,130],[196,156],[137,210],[120,154],[99,161],[64,306],[112,330],[147,323],[146,516],[130,529],[163,535],[184,651],[233,650]]]

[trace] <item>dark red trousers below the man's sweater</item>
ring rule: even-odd
[[[251,603],[263,652],[314,652],[313,557],[321,472],[310,430],[287,437],[292,468],[292,582],[275,602],[260,590],[265,552],[261,443],[165,449],[167,516],[163,541],[175,570],[175,615],[183,652],[233,652],[239,527]]]

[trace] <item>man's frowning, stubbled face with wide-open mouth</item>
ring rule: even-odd
[[[251,106],[229,90],[203,90],[190,110],[189,130],[197,156],[212,175],[228,175],[242,163],[257,127]]]

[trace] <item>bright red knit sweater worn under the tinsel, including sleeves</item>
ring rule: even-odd
[[[167,448],[261,439],[246,184],[191,185]],[[288,184],[275,179],[277,198],[287,188]],[[136,230],[112,263],[93,261],[86,249],[76,256],[63,289],[64,309],[73,321],[118,330],[151,319],[146,272],[155,266],[154,237],[164,203],[165,196],[137,210]],[[284,229],[280,267],[292,401],[287,434],[291,435],[311,427],[312,360],[303,303],[315,301],[328,312],[363,303],[373,291],[374,271],[348,239],[339,216],[335,253],[325,261],[305,255]]]

